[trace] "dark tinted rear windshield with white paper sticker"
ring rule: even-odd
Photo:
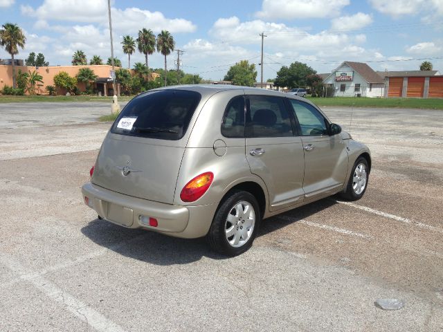
[[[179,140],[186,133],[200,99],[195,91],[169,89],[138,95],[127,103],[111,133]]]

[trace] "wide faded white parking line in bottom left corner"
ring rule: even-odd
[[[121,326],[111,322],[107,317],[80,301],[80,299],[76,299],[73,295],[63,291],[62,288],[49,279],[21,266],[17,263],[17,259],[10,257],[10,255],[0,253],[0,263],[12,270],[12,272],[17,273],[21,279],[25,279],[33,284],[35,288],[53,301],[63,304],[64,308],[67,308],[71,313],[80,318],[80,320],[93,327],[93,329],[103,332],[125,332]]]

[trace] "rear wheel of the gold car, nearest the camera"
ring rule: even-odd
[[[237,256],[251,248],[260,221],[257,199],[236,190],[221,201],[206,239],[216,252]]]

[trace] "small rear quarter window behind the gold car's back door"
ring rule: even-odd
[[[221,134],[230,138],[244,137],[244,96],[239,95],[228,102],[221,123]]]

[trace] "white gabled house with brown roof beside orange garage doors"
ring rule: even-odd
[[[345,61],[323,80],[335,97],[383,97],[385,82],[368,64]]]

